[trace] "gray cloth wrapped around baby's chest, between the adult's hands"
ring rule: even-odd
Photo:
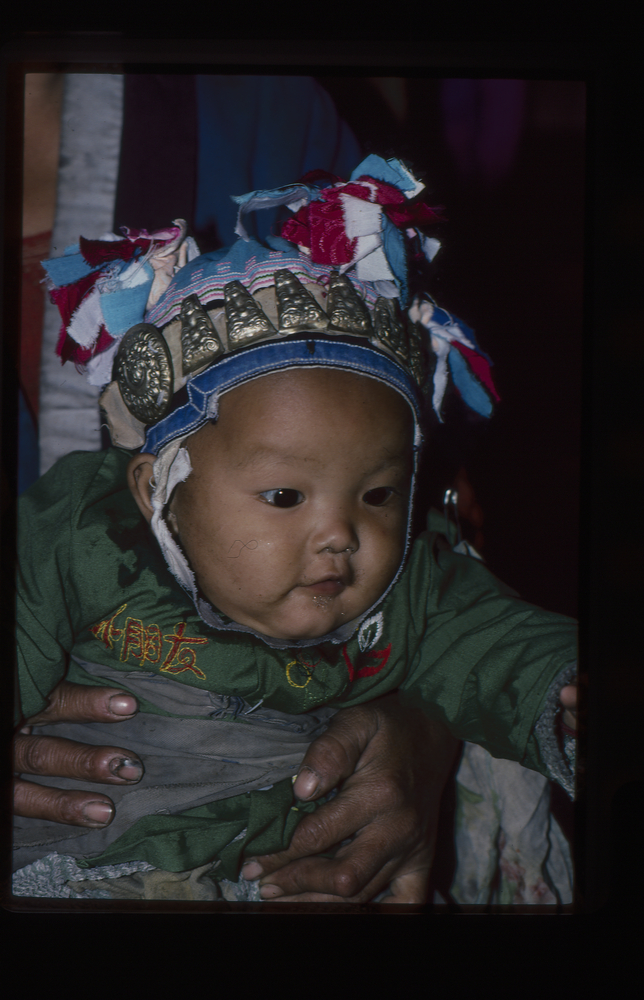
[[[123,674],[78,660],[94,676],[125,686],[158,708],[183,712],[175,718],[139,712],[119,722],[34,726],[36,735],[58,736],[94,746],[122,746],[136,753],[145,774],[136,785],[83,782],[83,790],[108,794],[116,807],[112,823],[87,829],[16,816],[14,870],[56,852],[76,858],[102,853],[143,816],[173,815],[266,788],[296,774],[310,743],[326,729],[335,709],[288,715],[251,706],[177,681],[133,671]],[[195,716],[197,716],[195,718]],[[199,717],[200,716],[200,717]],[[227,716],[227,718],[224,718]],[[77,781],[38,777],[54,788],[78,788]]]

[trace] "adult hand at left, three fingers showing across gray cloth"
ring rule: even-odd
[[[31,726],[52,722],[122,722],[138,712],[136,698],[118,688],[87,687],[61,681],[49,696],[48,707],[27,720],[15,738],[16,774],[77,778],[79,781],[133,785],[143,775],[136,754],[122,747],[96,747],[54,736],[33,736]],[[114,804],[107,795],[63,791],[18,777],[14,783],[17,816],[103,827],[114,818]]]

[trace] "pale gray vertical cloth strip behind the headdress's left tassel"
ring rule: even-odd
[[[123,76],[65,76],[51,254],[62,255],[79,236],[98,239],[113,225],[123,122]],[[40,474],[70,451],[101,447],[98,397],[72,364],[56,354],[61,318],[45,303],[40,363]]]

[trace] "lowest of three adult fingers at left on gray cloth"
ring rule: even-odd
[[[14,812],[54,823],[103,827],[114,818],[114,804],[107,795],[46,788],[18,778],[14,783]]]

